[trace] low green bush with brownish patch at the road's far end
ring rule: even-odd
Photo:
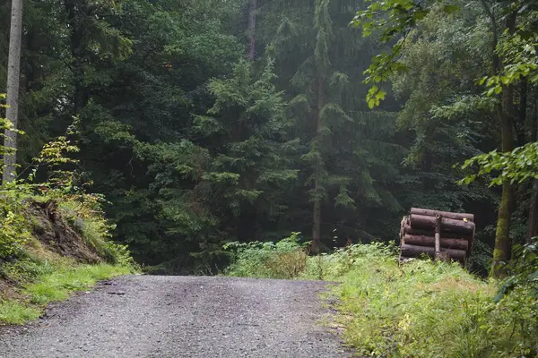
[[[232,277],[299,277],[307,268],[307,244],[299,243],[299,233],[277,243],[227,243],[224,249],[234,254],[225,273]]]

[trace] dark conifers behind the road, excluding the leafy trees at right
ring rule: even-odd
[[[222,243],[291,231],[323,247],[390,237],[408,143],[394,104],[362,100],[377,45],[348,26],[359,9],[260,2],[247,58],[243,0],[27,4],[21,168],[76,117],[83,182],[159,272],[214,272]]]

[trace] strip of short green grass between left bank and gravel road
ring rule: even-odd
[[[60,265],[32,279],[22,290],[22,300],[0,301],[0,324],[22,324],[39,318],[47,303],[62,301],[76,291],[88,290],[104,279],[126,275],[132,268],[99,265]]]

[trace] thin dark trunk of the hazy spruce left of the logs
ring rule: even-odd
[[[321,134],[321,111],[323,110],[323,107],[325,107],[325,93],[324,93],[324,81],[321,78],[321,76],[317,80],[317,111],[316,112],[316,135],[319,136]],[[322,171],[323,163],[320,162],[321,159],[318,159],[316,163],[316,167],[314,170],[316,171],[316,178],[314,180],[314,192],[315,192],[315,200],[314,200],[314,226],[312,228],[312,251],[313,253],[317,253],[319,251],[319,247],[321,246],[321,196],[319,195],[320,192],[322,192],[322,184],[320,183],[319,174]]]

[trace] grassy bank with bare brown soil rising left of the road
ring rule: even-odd
[[[134,272],[96,205],[12,194],[0,196],[0,325],[35,320],[48,303]]]

